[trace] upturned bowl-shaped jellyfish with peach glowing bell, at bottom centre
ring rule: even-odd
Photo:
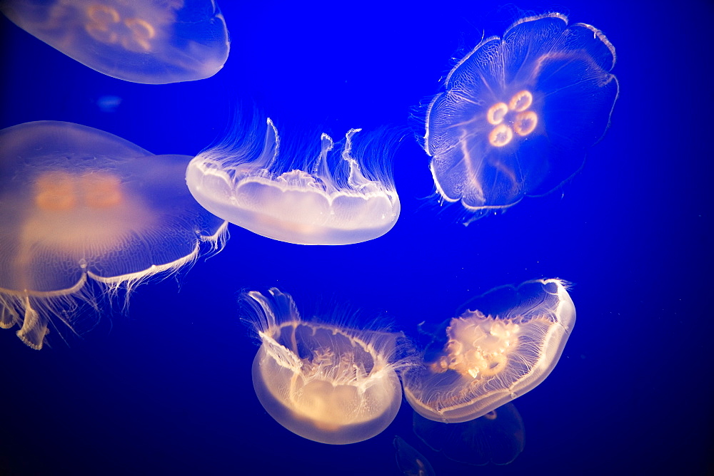
[[[401,405],[401,333],[301,319],[278,289],[241,296],[261,347],[253,387],[278,423],[308,440],[345,445],[382,432]]]

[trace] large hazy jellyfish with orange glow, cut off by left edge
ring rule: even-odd
[[[52,318],[72,328],[82,303],[96,309],[97,290],[128,297],[225,241],[183,183],[191,157],[56,121],[1,130],[0,151],[0,327],[31,348]]]

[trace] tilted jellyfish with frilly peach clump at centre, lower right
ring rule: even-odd
[[[533,390],[563,352],[575,306],[558,279],[503,286],[471,301],[403,372],[404,395],[429,420],[473,420]]]

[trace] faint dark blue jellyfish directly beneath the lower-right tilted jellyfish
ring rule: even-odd
[[[525,447],[523,419],[513,403],[463,423],[440,423],[414,412],[413,425],[432,450],[467,465],[508,465]]]

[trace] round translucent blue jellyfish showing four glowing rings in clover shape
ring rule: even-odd
[[[561,14],[483,39],[426,112],[424,148],[442,202],[461,202],[468,224],[572,177],[610,123],[613,66],[608,38]]]

